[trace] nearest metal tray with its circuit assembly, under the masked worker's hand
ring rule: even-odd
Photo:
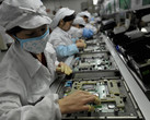
[[[141,120],[120,80],[73,79],[66,82],[59,95],[65,97],[79,89],[96,95],[101,105],[91,104],[95,108],[92,112],[64,115],[64,120]]]

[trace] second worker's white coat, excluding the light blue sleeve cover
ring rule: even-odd
[[[57,49],[58,46],[69,46],[73,44],[71,40],[71,35],[69,35],[68,32],[62,31],[60,27],[56,27],[51,32],[48,43],[50,43],[55,49]],[[66,59],[67,57],[58,57],[58,61],[66,61]]]

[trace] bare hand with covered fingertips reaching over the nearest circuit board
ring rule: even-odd
[[[73,94],[59,99],[61,113],[72,113],[77,111],[93,111],[94,107],[88,104],[94,103],[100,105],[100,99],[88,92],[77,91]]]

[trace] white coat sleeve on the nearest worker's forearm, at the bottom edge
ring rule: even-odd
[[[58,95],[47,95],[35,106],[22,106],[18,95],[0,96],[0,120],[61,120]]]

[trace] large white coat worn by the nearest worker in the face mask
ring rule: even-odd
[[[0,64],[0,120],[60,120],[51,74],[31,53],[13,44]],[[28,103],[37,101],[35,106]]]

